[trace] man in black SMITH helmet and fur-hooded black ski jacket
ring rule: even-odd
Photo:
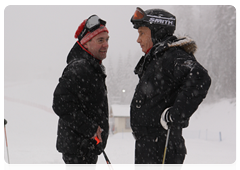
[[[186,154],[182,128],[206,97],[211,79],[193,55],[195,42],[173,36],[175,16],[137,8],[131,22],[145,53],[135,68],[139,83],[130,111],[135,170],[161,169],[169,128],[164,170],[180,170]]]

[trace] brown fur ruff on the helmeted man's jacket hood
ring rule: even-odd
[[[168,47],[181,47],[189,54],[194,54],[197,51],[197,45],[190,37],[179,38],[177,41],[168,44]]]

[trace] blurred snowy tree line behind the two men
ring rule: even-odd
[[[212,78],[206,100],[237,97],[238,6],[172,6],[166,10],[177,18],[175,35],[190,36],[198,46],[195,57]],[[117,68],[111,61],[106,65],[110,104],[131,103],[138,83],[133,70],[142,55],[133,55],[129,49],[128,56],[119,56]]]

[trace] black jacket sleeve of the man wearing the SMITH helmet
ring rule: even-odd
[[[211,78],[194,58],[176,58],[173,74],[180,88],[170,114],[174,122],[183,123],[206,97]]]

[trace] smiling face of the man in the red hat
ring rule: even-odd
[[[91,52],[95,58],[103,60],[107,56],[108,39],[108,33],[101,32],[84,44],[84,47]]]

